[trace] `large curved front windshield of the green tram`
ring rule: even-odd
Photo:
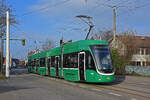
[[[113,66],[108,46],[95,45],[91,46],[98,70],[103,73],[112,73]]]

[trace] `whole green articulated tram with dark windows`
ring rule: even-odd
[[[74,82],[108,83],[114,80],[106,41],[80,40],[29,55],[28,70]]]

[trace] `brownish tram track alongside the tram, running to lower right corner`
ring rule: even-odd
[[[66,81],[66,80],[61,80],[61,79],[58,79],[58,78],[49,78],[49,77],[45,77],[47,79],[51,79],[51,80],[55,80],[55,81],[59,81],[59,82],[63,82],[65,84],[68,84],[68,85],[73,85],[73,86],[78,86],[78,87],[84,87],[84,88],[93,88],[93,89],[107,89],[107,90],[112,90],[112,91],[117,91],[117,92],[121,92],[121,93],[124,93],[124,94],[128,94],[128,95],[131,95],[131,96],[136,96],[136,97],[140,97],[142,98],[142,100],[149,100],[150,99],[150,92],[146,92],[146,91],[140,91],[140,90],[136,90],[136,89],[131,89],[131,88],[128,88],[128,87],[122,87],[121,85],[128,85],[128,84],[132,84],[134,86],[136,85],[139,85],[139,84],[134,84],[134,83],[124,83],[121,85],[110,85],[110,84],[87,84],[87,83],[80,83],[80,82],[70,82],[70,81]],[[143,87],[141,87],[143,88]]]

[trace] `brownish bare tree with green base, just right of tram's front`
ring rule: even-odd
[[[136,32],[128,30],[116,37],[116,47],[111,48],[111,54],[116,74],[125,74],[125,66],[130,64],[136,50]]]

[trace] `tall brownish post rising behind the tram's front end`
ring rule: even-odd
[[[113,46],[116,46],[116,8],[113,8]]]

